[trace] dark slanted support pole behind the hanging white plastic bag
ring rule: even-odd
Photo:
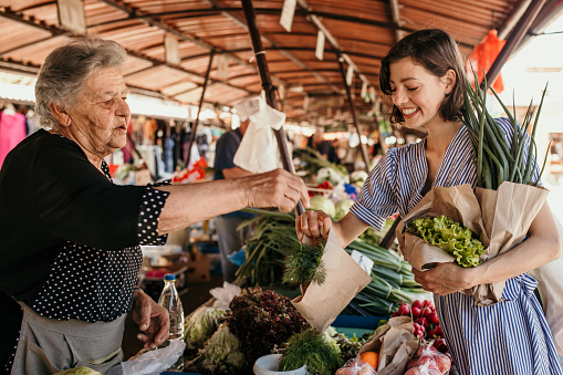
[[[248,31],[250,33],[250,39],[252,40],[254,56],[257,59],[257,65],[260,72],[260,80],[262,81],[262,88],[265,92],[265,100],[268,102],[268,105],[270,105],[272,108],[279,110],[279,104],[278,100],[275,98],[274,92],[275,88],[272,85],[270,71],[268,69],[265,51],[262,45],[260,31],[258,30],[257,17],[254,12],[254,7],[252,6],[252,0],[242,0],[242,8],[244,9],[244,18],[247,19]],[[278,148],[280,149],[283,168],[294,174],[295,169],[293,168],[293,163],[288,149],[285,132],[283,131],[283,127],[281,127],[279,131],[273,132],[275,134],[275,139],[278,140]],[[298,215],[304,212],[303,205],[301,204],[301,201],[298,202],[296,210]]]

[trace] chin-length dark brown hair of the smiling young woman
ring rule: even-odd
[[[448,70],[456,72],[456,86],[446,96],[440,105],[439,113],[445,121],[459,119],[460,110],[463,105],[463,91],[466,88],[466,71],[461,52],[447,32],[439,29],[418,30],[403,38],[393,46],[382,60],[379,71],[379,86],[390,102],[389,65],[405,58],[410,58],[417,64],[423,65],[438,77]],[[390,114],[392,123],[405,121],[399,108],[393,106]]]

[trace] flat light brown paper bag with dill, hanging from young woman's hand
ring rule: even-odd
[[[303,295],[291,301],[301,315],[320,332],[324,332],[350,301],[372,281],[342,249],[333,231],[329,232],[322,261],[326,269],[324,283],[311,283],[302,290]]]

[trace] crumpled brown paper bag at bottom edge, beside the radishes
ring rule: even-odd
[[[377,374],[403,375],[408,360],[418,348],[410,316],[392,317],[377,329],[376,335],[359,350],[357,357],[364,352],[379,353]]]

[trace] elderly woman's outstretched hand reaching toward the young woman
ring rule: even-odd
[[[249,207],[277,207],[291,211],[298,201],[309,207],[309,194],[301,177],[284,169],[241,178],[247,187]]]

